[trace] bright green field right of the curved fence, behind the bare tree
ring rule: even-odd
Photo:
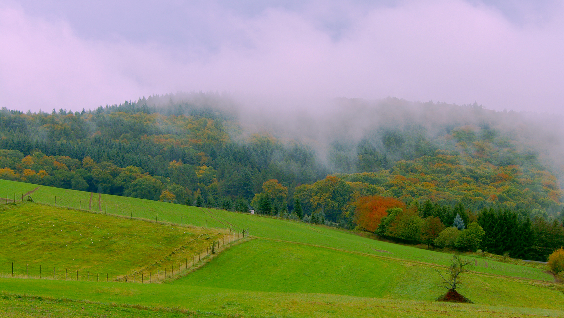
[[[433,301],[446,292],[440,267],[296,243],[253,240],[225,251],[174,285],[259,292],[327,293]],[[530,281],[462,275],[459,292],[481,304],[564,308],[564,294]],[[556,307],[553,307],[554,304]]]

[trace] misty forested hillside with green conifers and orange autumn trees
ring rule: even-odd
[[[543,151],[557,140],[526,114],[398,99],[330,106],[283,124],[201,93],[92,111],[3,108],[0,178],[287,216],[298,200],[310,222],[347,227],[358,225],[353,203],[374,195],[562,220],[558,164]]]

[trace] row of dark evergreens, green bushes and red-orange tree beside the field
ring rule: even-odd
[[[461,251],[481,249],[512,258],[546,261],[564,245],[564,224],[533,217],[525,210],[466,209],[429,200],[406,204],[391,197],[360,197],[354,202],[359,229],[409,244]]]

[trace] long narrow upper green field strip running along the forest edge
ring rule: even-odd
[[[13,189],[11,193],[25,193],[35,188],[37,188],[35,184],[0,180],[0,195],[2,192],[10,193],[8,189]],[[79,203],[79,201],[83,202],[81,200],[86,200],[88,202],[90,195],[90,192],[41,186],[31,196],[36,202],[49,205],[54,204],[54,198],[57,196],[58,206],[67,204],[69,207],[78,209],[78,206],[81,205],[82,209],[85,209],[84,206],[87,205]],[[201,209],[194,206],[131,197],[100,195],[100,200],[102,213],[105,213],[107,210],[107,213],[127,217],[133,215],[133,217],[150,220],[158,218],[158,220],[165,222],[178,224],[182,222],[183,224],[192,224],[200,227],[232,228],[235,231],[249,228],[250,235],[258,237],[302,242],[347,251],[358,251],[394,259],[400,258],[440,265],[448,264],[451,259],[451,255],[448,253],[371,240],[351,232],[302,222],[259,217],[257,215],[233,213],[224,210]],[[92,211],[100,212],[98,209],[98,193],[92,194]],[[545,281],[554,280],[552,275],[539,268],[518,266],[489,259],[477,258],[476,260],[477,266],[475,266],[474,270],[478,272]]]

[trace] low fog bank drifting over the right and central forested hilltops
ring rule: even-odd
[[[165,114],[189,114],[193,108],[217,109],[241,123],[243,130],[232,132],[233,137],[243,139],[259,132],[282,140],[298,140],[314,148],[318,159],[333,173],[355,172],[351,162],[362,140],[386,153],[390,160],[412,160],[437,147],[454,149],[459,140],[444,137],[463,126],[478,136],[492,134],[497,140],[511,141],[515,151],[538,156],[559,176],[564,172],[564,117],[555,114],[493,111],[477,103],[422,103],[397,98],[272,100],[214,93],[153,95],[138,103]],[[417,148],[417,142],[424,139],[429,140],[427,149]],[[512,164],[511,155],[497,158],[495,164]]]

